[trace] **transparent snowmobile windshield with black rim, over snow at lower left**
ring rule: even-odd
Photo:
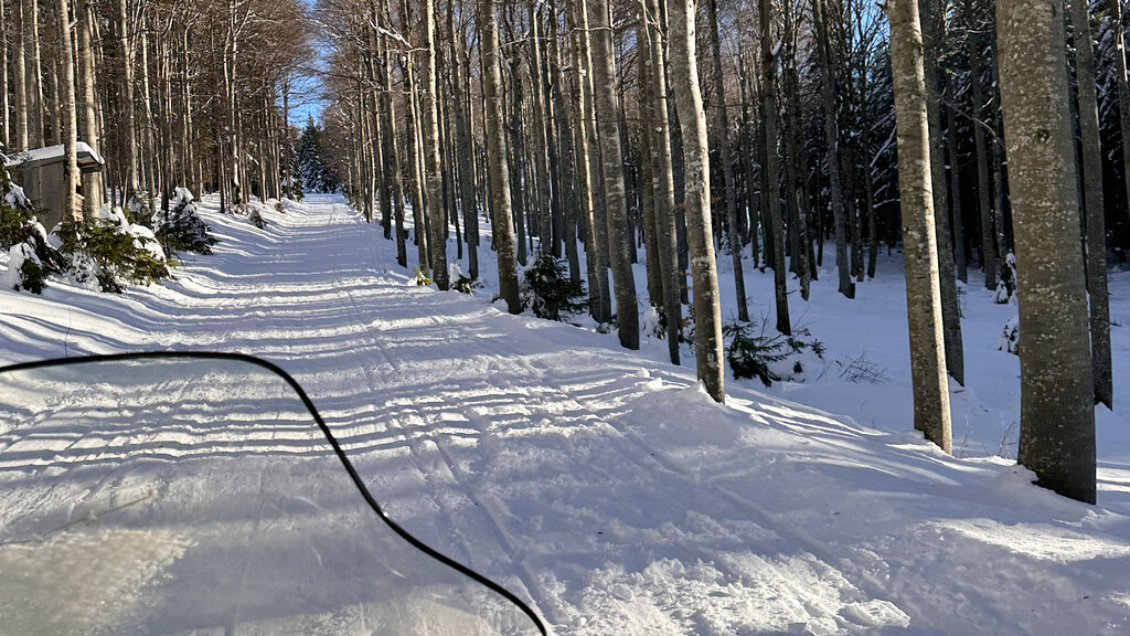
[[[544,633],[384,516],[288,376],[207,355],[0,369],[0,634]]]

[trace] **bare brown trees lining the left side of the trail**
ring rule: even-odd
[[[87,217],[103,201],[167,207],[179,186],[225,208],[280,197],[305,25],[297,0],[3,0],[0,143],[63,144],[71,182],[77,140],[105,156],[84,178]]]

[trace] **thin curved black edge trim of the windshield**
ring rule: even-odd
[[[287,373],[281,367],[275,364],[273,362],[268,362],[267,360],[263,360],[261,358],[255,358],[253,355],[247,355],[245,353],[221,353],[217,351],[164,351],[164,352],[142,351],[136,353],[110,353],[103,355],[87,355],[82,358],[56,358],[53,360],[19,362],[17,364],[0,367],[0,373],[7,373],[9,371],[27,371],[32,369],[42,369],[46,367],[87,364],[92,362],[120,362],[128,360],[159,360],[159,359],[234,360],[238,362],[247,362],[250,364],[254,364],[257,367],[267,369],[268,371],[286,380],[286,383],[290,386],[290,388],[293,388],[295,393],[298,394],[298,397],[302,399],[302,403],[306,406],[306,410],[310,411],[311,415],[313,415],[314,421],[318,422],[318,428],[322,431],[322,435],[325,436],[325,440],[330,442],[330,446],[333,447],[333,453],[338,456],[338,459],[341,461],[341,465],[345,467],[346,472],[349,473],[349,479],[353,480],[354,485],[357,487],[357,490],[360,491],[362,497],[365,498],[365,501],[368,502],[370,507],[373,508],[373,512],[376,513],[379,517],[381,517],[381,521],[383,521],[385,525],[392,528],[393,532],[399,534],[401,539],[410,543],[417,550],[444,564],[445,566],[454,569],[455,571],[459,571],[460,574],[468,576],[473,581],[487,586],[494,592],[501,594],[507,601],[518,605],[518,608],[522,610],[522,612],[525,613],[525,616],[530,617],[530,620],[533,621],[533,625],[538,628],[539,631],[541,631],[541,636],[548,636],[548,631],[546,631],[546,626],[541,622],[541,619],[538,618],[538,614],[529,605],[527,605],[524,601],[512,594],[502,585],[498,585],[497,583],[490,581],[486,576],[475,571],[473,569],[431,548],[419,539],[412,536],[407,530],[400,527],[400,525],[397,522],[392,521],[392,518],[389,517],[388,514],[385,514],[384,509],[381,508],[381,505],[376,502],[376,499],[373,498],[373,495],[368,491],[368,488],[365,487],[365,483],[360,480],[360,475],[357,474],[356,469],[354,469],[353,464],[349,462],[349,458],[346,457],[345,450],[341,449],[341,445],[338,444],[337,438],[334,438],[333,433],[330,432],[330,428],[325,424],[325,420],[322,419],[321,413],[318,412],[318,407],[314,406],[314,402],[310,399],[308,395],[306,395],[306,392],[302,388],[302,385],[299,385],[297,380],[290,377],[290,373]]]

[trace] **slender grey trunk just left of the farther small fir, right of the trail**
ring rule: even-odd
[[[483,63],[483,100],[485,102],[487,164],[490,166],[490,191],[494,197],[495,249],[498,252],[498,295],[511,313],[522,312],[518,296],[518,259],[514,255],[514,223],[510,209],[510,170],[505,158],[506,138],[502,127],[502,100],[498,86],[498,16],[494,0],[479,0],[479,45]]]

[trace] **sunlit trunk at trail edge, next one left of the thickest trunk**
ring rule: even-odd
[[[1007,0],[1006,0],[1007,1]],[[898,192],[906,261],[914,428],[946,453],[953,449],[941,290],[930,177],[930,127],[918,0],[887,0],[890,67],[898,131]]]

